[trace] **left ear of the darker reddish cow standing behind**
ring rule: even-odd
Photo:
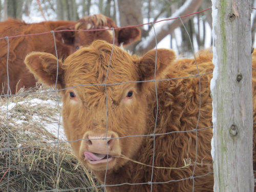
[[[74,39],[75,39],[75,32],[74,31],[60,31],[60,30],[72,30],[71,27],[65,27],[65,26],[60,26],[56,28],[54,31],[59,31],[55,32],[55,37],[56,39],[61,42],[64,45],[73,45],[74,44]]]

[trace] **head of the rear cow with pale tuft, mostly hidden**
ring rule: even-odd
[[[117,28],[115,22],[102,14],[86,16],[78,20],[74,25],[60,26],[55,31],[60,30],[94,30]],[[113,43],[113,31],[62,31],[55,33],[56,39],[66,46],[71,47],[71,53],[80,46],[90,45],[94,40],[101,39]],[[124,47],[140,39],[140,30],[137,27],[115,29],[115,45]]]

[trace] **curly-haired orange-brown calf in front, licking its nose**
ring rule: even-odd
[[[151,134],[154,133],[158,114],[155,134],[159,135],[155,136],[152,182],[166,183],[153,183],[153,191],[192,191],[193,179],[190,177],[195,165],[196,132],[191,130],[196,129],[198,123],[199,78],[176,77],[196,75],[194,59],[176,61],[172,50],[158,49],[156,79],[176,79],[155,84],[147,81],[155,76],[155,50],[137,57],[115,47],[108,71],[111,51],[111,44],[97,40],[64,62],[59,60],[57,88],[65,89],[61,91],[63,126],[69,141],[79,139],[71,142],[74,153],[93,170],[101,184],[104,184],[108,166],[105,184],[120,184],[107,186],[108,191],[150,191],[148,182],[151,181],[152,167],[146,165],[153,163],[154,137]],[[211,59],[210,53],[197,58],[200,74],[213,70]],[[54,55],[34,52],[26,57],[25,63],[40,81],[49,86],[55,85]],[[211,77],[212,73],[201,76],[195,191],[213,191],[214,187],[210,155],[212,130],[203,129],[212,126]],[[105,79],[106,90],[101,84]],[[253,82],[256,82],[255,78]],[[77,86],[79,84],[87,86]],[[179,131],[190,132],[176,133]],[[136,135],[147,136],[125,137]],[[103,140],[105,136],[107,139]],[[122,138],[116,139],[118,137]]]

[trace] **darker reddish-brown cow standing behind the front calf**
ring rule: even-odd
[[[86,16],[78,22],[59,21],[26,24],[20,20],[9,19],[0,23],[0,37],[49,32],[51,30],[89,30],[116,28],[115,22],[104,15]],[[55,32],[59,58],[65,58],[80,46],[90,45],[95,39],[113,42],[113,32]],[[138,28],[115,30],[115,45],[129,45],[140,38]],[[20,88],[35,86],[34,76],[25,67],[25,56],[32,51],[55,54],[53,34],[10,38],[9,76],[10,91],[15,94]],[[7,94],[7,40],[0,39],[0,95]],[[2,89],[4,88],[4,89]],[[4,91],[4,92],[3,92]]]

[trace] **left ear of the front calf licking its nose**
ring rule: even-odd
[[[58,60],[57,67],[57,58],[54,55],[50,53],[32,52],[26,56],[24,62],[36,79],[50,87],[55,87],[58,68],[57,89],[64,88],[62,62]]]

